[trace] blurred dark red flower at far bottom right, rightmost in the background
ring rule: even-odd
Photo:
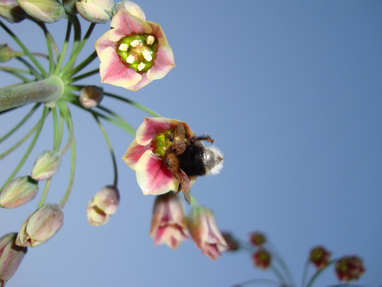
[[[365,272],[363,262],[357,256],[345,256],[338,259],[335,264],[335,272],[338,280],[351,281],[358,280]]]

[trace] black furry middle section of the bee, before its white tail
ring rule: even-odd
[[[205,175],[206,168],[203,162],[204,147],[190,143],[185,152],[178,155],[179,167],[188,175]]]

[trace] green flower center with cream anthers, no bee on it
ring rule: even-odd
[[[138,73],[147,72],[154,64],[158,40],[151,34],[132,34],[117,44],[121,60]]]

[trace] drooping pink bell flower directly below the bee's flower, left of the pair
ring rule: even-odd
[[[180,197],[171,192],[157,196],[152,212],[150,236],[154,246],[166,243],[172,249],[178,248],[181,241],[187,240],[185,207]]]

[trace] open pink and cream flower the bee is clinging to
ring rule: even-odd
[[[164,117],[145,117],[122,158],[126,165],[136,171],[137,181],[144,195],[178,190],[179,179],[168,170],[165,161],[161,160],[167,148],[172,145],[165,134],[172,134],[178,123],[185,127],[186,137],[195,135],[186,122]],[[189,176],[189,186],[195,180],[196,176]]]

